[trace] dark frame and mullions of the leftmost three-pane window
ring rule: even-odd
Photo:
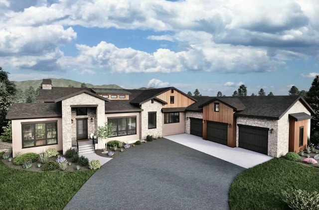
[[[56,143],[55,144],[48,144],[48,140],[51,140],[51,139],[55,139],[55,138],[47,138],[47,124],[49,123],[55,123],[55,128],[56,128]],[[35,125],[36,124],[44,124],[45,126],[45,138],[44,139],[36,139],[35,138]],[[51,121],[36,121],[36,122],[21,122],[21,140],[22,140],[22,149],[25,149],[25,148],[33,148],[33,147],[24,147],[24,141],[23,140],[23,127],[25,125],[33,125],[33,135],[34,135],[34,139],[33,140],[30,140],[30,141],[33,141],[33,147],[44,147],[44,146],[51,146],[51,145],[57,145],[58,144],[58,121],[57,120],[51,120]],[[38,145],[36,146],[36,141],[45,141],[45,144],[44,145]],[[26,140],[27,141],[27,140]]]

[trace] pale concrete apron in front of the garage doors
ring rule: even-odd
[[[239,147],[227,147],[226,145],[203,140],[201,137],[190,134],[177,134],[165,136],[164,138],[237,166],[241,166],[245,169],[257,166],[272,159],[272,157],[261,153]]]

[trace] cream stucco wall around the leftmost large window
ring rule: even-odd
[[[39,147],[31,147],[22,149],[22,126],[21,123],[26,122],[45,122],[45,121],[57,121],[57,134],[58,134],[58,144],[46,145]],[[62,119],[61,118],[38,118],[38,119],[24,119],[24,120],[12,120],[12,155],[13,158],[17,152],[28,153],[43,153],[44,150],[48,148],[56,148],[57,151],[62,150]]]

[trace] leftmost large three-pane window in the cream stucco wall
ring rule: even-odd
[[[22,148],[57,144],[57,122],[22,124]]]

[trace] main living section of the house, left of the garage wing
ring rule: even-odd
[[[128,90],[52,87],[43,79],[38,103],[13,104],[6,115],[12,125],[12,150],[65,152],[78,140],[97,133],[105,122],[113,125],[109,140],[133,143],[148,135],[185,133],[185,109],[196,100],[174,87]],[[98,139],[96,149],[103,149]]]

